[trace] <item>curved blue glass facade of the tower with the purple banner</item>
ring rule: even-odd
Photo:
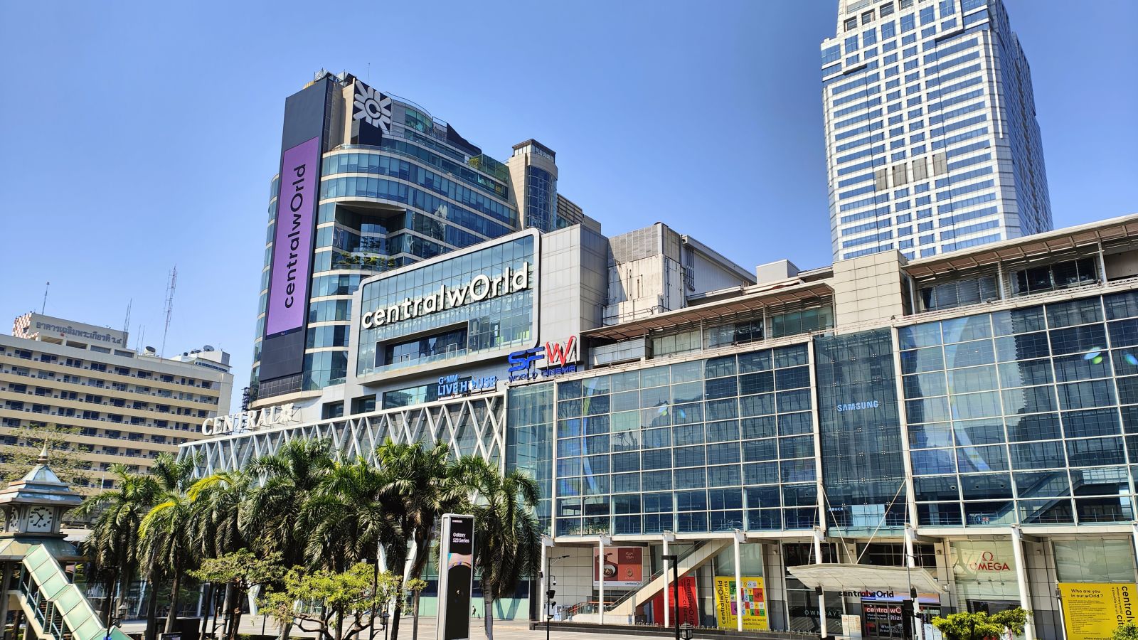
[[[437,128],[421,109],[399,100],[393,109],[396,118],[390,132],[377,145],[328,145],[332,149],[322,159],[308,302],[310,318],[330,311],[333,317],[315,321],[336,328],[308,328],[299,383],[289,377],[261,385],[264,307],[280,183],[273,178],[250,379],[254,399],[344,381],[348,319],[339,317],[336,309],[351,303],[361,278],[520,228],[518,210],[510,203],[509,172],[502,163],[481,154],[471,157],[473,148],[448,138],[447,125]],[[336,351],[313,351],[321,348]]]

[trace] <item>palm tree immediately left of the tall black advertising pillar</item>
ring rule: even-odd
[[[404,581],[421,579],[439,516],[462,504],[468,490],[451,459],[445,442],[430,449],[420,443],[395,444],[388,438],[376,450],[377,462],[386,478],[385,501],[391,514],[398,514],[398,531],[404,535],[403,549],[410,547],[412,558],[405,560]],[[398,558],[398,544],[390,545]],[[419,593],[413,602],[412,639],[419,635]],[[391,640],[399,633],[402,606],[396,602],[391,616]]]

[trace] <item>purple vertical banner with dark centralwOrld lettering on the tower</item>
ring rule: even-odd
[[[312,230],[320,181],[320,137],[281,155],[281,186],[277,197],[273,266],[269,281],[265,336],[304,326],[308,310]]]

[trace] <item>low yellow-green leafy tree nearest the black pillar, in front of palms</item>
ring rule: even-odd
[[[284,625],[299,624],[302,631],[320,634],[321,640],[353,640],[371,629],[372,612],[399,598],[402,580],[389,572],[376,580],[374,566],[358,563],[348,571],[306,571],[294,568],[281,589],[267,591],[258,601]],[[378,589],[372,590],[376,580]],[[351,625],[345,629],[345,622]]]

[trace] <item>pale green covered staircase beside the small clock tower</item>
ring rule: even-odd
[[[16,597],[27,617],[25,639],[130,640],[117,627],[102,626],[99,616],[67,580],[59,563],[42,544],[32,547],[22,563]]]

